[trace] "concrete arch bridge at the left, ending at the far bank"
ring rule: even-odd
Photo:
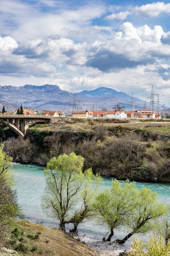
[[[24,137],[29,123],[49,123],[51,116],[45,115],[16,115],[0,114],[0,123],[8,126],[19,136]]]

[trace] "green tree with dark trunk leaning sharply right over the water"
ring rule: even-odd
[[[145,233],[153,229],[152,220],[163,215],[165,212],[164,204],[157,203],[157,193],[149,188],[137,190],[134,201],[134,211],[129,213],[126,219],[126,226],[131,229],[122,240],[117,239],[114,242],[125,243],[135,233]]]

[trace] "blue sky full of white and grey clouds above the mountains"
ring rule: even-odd
[[[153,85],[170,106],[170,1],[0,3],[1,86],[108,87],[149,101]]]

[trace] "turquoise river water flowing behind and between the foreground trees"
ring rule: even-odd
[[[41,195],[43,194],[45,181],[43,167],[37,165],[21,165],[13,164],[12,171],[14,172],[17,185],[18,202],[22,207],[24,219],[31,222],[40,223],[47,227],[58,226],[58,223],[53,219],[47,218],[41,210]],[[111,178],[103,178],[103,189],[111,187]],[[151,182],[136,182],[137,188],[150,188],[158,194],[158,201],[170,203],[170,183],[151,183]],[[68,229],[70,226],[68,225]],[[87,237],[102,239],[107,233],[107,229],[98,225],[97,222],[85,222],[80,225],[78,232],[80,235],[86,234]],[[121,228],[115,231],[114,238],[123,238],[124,233]],[[140,238],[140,236],[138,236]],[[142,237],[141,237],[142,238]],[[130,241],[126,242],[129,244]]]

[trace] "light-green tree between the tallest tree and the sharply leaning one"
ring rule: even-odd
[[[96,197],[93,204],[101,224],[110,229],[110,234],[106,241],[111,241],[114,235],[114,228],[122,225],[130,212],[134,210],[136,197],[135,182],[112,181],[110,190],[105,189]]]

